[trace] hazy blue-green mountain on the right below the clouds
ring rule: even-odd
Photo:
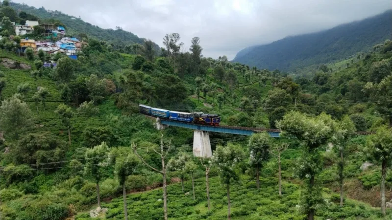
[[[290,36],[271,44],[247,47],[233,62],[270,70],[294,70],[297,67],[341,60],[392,37],[392,10],[368,19],[332,29]]]

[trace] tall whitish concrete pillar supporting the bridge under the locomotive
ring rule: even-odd
[[[212,156],[210,136],[208,132],[195,130],[193,135],[193,155],[209,158]]]

